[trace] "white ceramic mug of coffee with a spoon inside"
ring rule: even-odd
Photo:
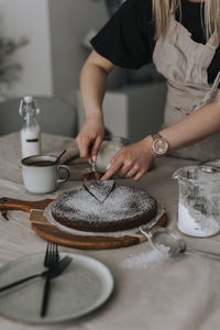
[[[54,191],[59,184],[68,180],[69,167],[55,163],[55,156],[31,156],[21,161],[22,176],[28,191],[46,194]],[[66,172],[66,177],[61,178],[61,169]]]

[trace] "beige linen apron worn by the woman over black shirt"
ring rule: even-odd
[[[207,70],[216,50],[213,35],[205,45],[196,43],[188,30],[170,16],[167,34],[157,40],[153,53],[155,66],[167,79],[168,87],[163,128],[176,123],[215,99],[220,72],[210,85]],[[197,161],[220,158],[220,132],[170,154]]]

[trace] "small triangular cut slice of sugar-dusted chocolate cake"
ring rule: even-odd
[[[84,188],[94,196],[99,202],[105,202],[116,185],[114,180],[96,180],[84,184]]]

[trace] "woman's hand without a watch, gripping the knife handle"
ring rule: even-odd
[[[102,113],[90,114],[76,138],[80,157],[91,158],[96,156],[103,140],[105,124]]]

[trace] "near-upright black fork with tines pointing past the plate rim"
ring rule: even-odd
[[[58,255],[57,244],[48,243],[46,248],[45,258],[44,258],[44,266],[48,267],[48,272],[46,274],[46,279],[44,285],[41,317],[45,317],[46,315],[46,309],[48,305],[48,294],[51,288],[51,278],[53,277],[53,268],[56,267],[58,260],[59,260],[59,255]]]

